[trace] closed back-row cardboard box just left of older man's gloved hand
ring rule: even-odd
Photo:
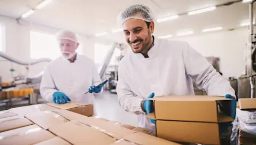
[[[50,110],[50,111],[58,110],[58,108],[51,107],[46,104],[35,104],[30,106],[11,108],[9,110],[14,112],[15,114],[18,114],[19,116],[25,116],[26,114],[29,114],[29,113],[46,111],[46,110]]]

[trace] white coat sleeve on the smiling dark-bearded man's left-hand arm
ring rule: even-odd
[[[141,108],[143,98],[135,95],[126,82],[125,70],[122,69],[121,63],[118,68],[117,94],[120,106],[128,112],[141,114],[144,111]],[[131,79],[131,78],[127,78]]]

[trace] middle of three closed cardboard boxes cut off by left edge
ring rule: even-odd
[[[18,115],[2,118],[0,119],[0,132],[9,131],[32,124],[34,123],[30,122],[30,120]]]

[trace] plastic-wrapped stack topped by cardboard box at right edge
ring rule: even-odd
[[[256,98],[238,99],[232,144],[256,144]]]

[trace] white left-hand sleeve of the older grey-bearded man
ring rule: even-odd
[[[40,84],[40,94],[44,100],[52,102],[52,95],[57,91],[50,70],[46,67]]]

